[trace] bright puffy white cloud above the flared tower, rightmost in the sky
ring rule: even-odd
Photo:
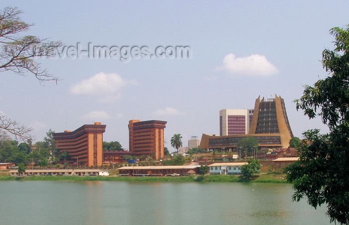
[[[230,53],[224,57],[223,66],[218,69],[226,70],[233,75],[268,76],[279,72],[264,55],[258,54],[235,58],[235,55]]]

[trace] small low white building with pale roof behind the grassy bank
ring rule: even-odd
[[[209,173],[212,175],[233,175],[241,174],[241,166],[247,162],[219,162],[208,165]]]

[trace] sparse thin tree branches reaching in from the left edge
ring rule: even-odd
[[[58,81],[46,69],[40,68],[40,63],[34,58],[52,58],[62,46],[60,41],[47,41],[36,36],[20,36],[34,24],[28,24],[21,20],[23,12],[15,7],[5,7],[0,11],[0,72],[12,71],[20,76],[27,73],[34,75],[42,84],[44,81]],[[32,139],[31,127],[26,127],[8,116],[0,114],[0,129],[7,130],[23,141]]]

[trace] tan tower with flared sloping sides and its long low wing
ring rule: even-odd
[[[202,134],[200,148],[235,148],[239,140],[253,136],[258,140],[259,148],[281,149],[288,148],[293,137],[288,121],[284,100],[275,98],[255,101],[253,117],[248,134],[237,135],[207,135]]]

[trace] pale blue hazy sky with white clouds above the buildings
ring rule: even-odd
[[[165,120],[165,146],[180,133],[219,134],[219,111],[251,109],[258,96],[285,100],[293,134],[328,132],[293,102],[328,74],[332,27],[349,24],[349,1],[1,1],[35,23],[23,35],[62,41],[36,59],[61,80],[1,72],[0,112],[46,132],[106,124],[104,141],[128,149],[128,121]],[[90,46],[90,47],[89,47]],[[97,46],[97,47],[96,47]],[[99,55],[104,46],[106,55]],[[185,47],[186,54],[180,54]],[[92,49],[92,50],[91,50]],[[178,50],[178,52],[177,52]],[[88,55],[90,54],[90,55]]]

